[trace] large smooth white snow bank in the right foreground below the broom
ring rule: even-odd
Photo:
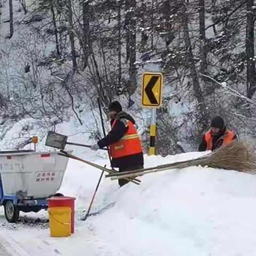
[[[194,156],[147,158],[163,164]],[[98,202],[113,205],[85,227],[127,255],[255,255],[256,177],[190,167],[141,178]],[[103,198],[103,200],[102,200]]]

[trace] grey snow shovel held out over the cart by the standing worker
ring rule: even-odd
[[[52,148],[58,148],[61,150],[64,150],[66,145],[74,145],[74,146],[91,148],[91,146],[89,146],[89,145],[67,142],[67,140],[68,140],[68,137],[66,135],[49,131],[47,134],[46,141],[45,141],[45,146],[49,146]],[[100,148],[100,149],[108,150],[107,148]]]

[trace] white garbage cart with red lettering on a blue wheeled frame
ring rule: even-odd
[[[6,220],[15,223],[20,211],[47,209],[46,198],[57,195],[67,164],[57,151],[0,151],[0,205]]]

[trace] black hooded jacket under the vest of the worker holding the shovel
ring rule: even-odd
[[[121,111],[116,116],[116,123],[108,133],[108,135],[98,141],[98,145],[100,148],[110,146],[111,144],[119,141],[127,132],[128,126],[126,125],[127,120],[131,121],[135,124],[134,119],[127,113]],[[111,120],[111,126],[113,125],[114,120]],[[143,153],[123,156],[118,158],[112,158],[111,164],[113,167],[130,167],[130,166],[137,166],[143,165]]]

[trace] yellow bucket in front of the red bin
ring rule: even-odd
[[[70,207],[53,207],[48,209],[51,237],[67,237],[71,235]]]

